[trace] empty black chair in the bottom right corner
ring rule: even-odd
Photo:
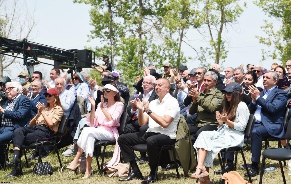
[[[279,161],[283,183],[286,184],[282,161],[291,159],[291,150],[288,149],[288,147],[290,146],[290,139],[291,139],[290,121],[287,127],[286,138],[287,138],[287,145],[285,149],[284,148],[267,148],[265,151],[262,152],[263,158],[262,158],[262,168],[261,168],[261,173],[260,173],[260,184],[262,184],[266,158]]]

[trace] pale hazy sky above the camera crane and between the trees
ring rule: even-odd
[[[20,0],[23,1],[24,0]],[[244,9],[241,17],[238,19],[238,24],[233,28],[228,27],[227,40],[229,42],[228,57],[223,67],[237,67],[240,64],[254,63],[262,64],[265,68],[270,69],[273,62],[281,62],[278,60],[267,60],[260,62],[262,59],[261,49],[268,50],[269,48],[263,44],[259,44],[255,35],[264,35],[260,26],[263,26],[263,20],[268,19],[274,23],[278,20],[270,19],[265,15],[261,9],[255,6],[252,1],[247,0],[247,8]],[[90,34],[90,30],[93,29],[89,25],[89,9],[90,5],[75,4],[72,0],[51,0],[51,1],[26,1],[29,10],[33,10],[34,18],[37,22],[37,26],[32,32],[32,37],[35,37],[33,42],[45,44],[62,49],[84,49],[84,46],[102,46],[97,40],[87,42],[87,35]],[[278,23],[277,23],[278,24]],[[194,30],[189,29],[187,31],[187,41],[192,47],[198,49],[199,47],[207,46],[207,42],[202,41],[201,36]],[[194,60],[196,53],[185,43],[182,43],[182,51],[185,56],[191,56],[193,60],[187,62],[187,67],[192,69],[199,66],[198,60]],[[108,54],[109,55],[109,54]],[[50,60],[39,58],[42,62],[53,63]],[[101,58],[96,58],[96,62],[102,63]],[[209,61],[213,63],[214,61]],[[20,60],[20,63],[23,63]],[[13,77],[16,78],[18,73],[24,69],[23,66],[14,66]],[[45,79],[49,79],[49,72],[52,66],[49,65],[37,65],[35,71],[41,71],[44,74]],[[4,73],[5,76],[5,73]]]

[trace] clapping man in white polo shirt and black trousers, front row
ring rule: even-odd
[[[128,133],[118,137],[117,142],[123,155],[123,160],[124,162],[129,162],[132,166],[132,173],[127,178],[121,178],[119,181],[143,178],[134,159],[131,146],[147,144],[150,174],[141,183],[148,184],[154,182],[160,148],[163,145],[175,143],[180,119],[179,104],[177,99],[169,94],[170,82],[167,78],[159,78],[156,84],[155,91],[159,96],[158,99],[150,103],[144,99],[142,102],[139,99],[135,100],[136,107],[139,109],[139,125],[143,126],[148,122],[148,130],[145,133]],[[145,112],[143,112],[143,109]]]

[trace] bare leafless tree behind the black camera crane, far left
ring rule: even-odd
[[[9,39],[28,38],[32,29],[36,26],[33,14],[30,14],[26,4],[18,1],[0,1],[0,36]],[[17,56],[18,53],[15,55]],[[3,71],[9,71],[10,66],[15,63],[16,57],[7,57],[0,54],[0,78]]]

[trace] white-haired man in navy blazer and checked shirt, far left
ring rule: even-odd
[[[22,95],[22,85],[19,82],[6,83],[5,92],[8,97],[5,105],[0,107],[0,165],[5,161],[3,144],[13,139],[14,130],[24,127],[31,118],[29,99]]]

